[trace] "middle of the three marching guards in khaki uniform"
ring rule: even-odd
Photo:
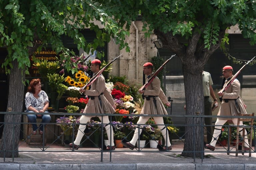
[[[143,71],[144,74],[147,75],[148,78],[152,76],[152,71],[153,71],[153,64],[152,63],[145,63],[143,65]],[[170,103],[168,102],[163,90],[160,87],[160,80],[158,77],[155,77],[155,79],[149,84],[144,91],[139,91],[141,94],[144,93],[145,99],[144,99],[144,104],[141,110],[141,114],[167,114],[167,111],[163,105],[165,103],[166,106],[170,106]],[[156,124],[164,124],[163,117],[154,117],[154,120]],[[141,116],[137,122],[137,124],[145,124],[149,117],[144,117]],[[167,144],[167,148],[163,147],[163,149],[159,149],[160,151],[164,150],[171,150],[172,146],[169,140],[169,135],[168,135],[168,130],[166,134],[166,129],[164,125],[158,125],[157,126],[164,137],[165,143]],[[138,131],[140,129],[140,134],[142,129],[137,127],[135,129],[133,138],[130,142],[123,142],[123,145],[127,148],[134,149],[135,148],[135,143],[139,137]],[[167,138],[166,138],[167,136]]]

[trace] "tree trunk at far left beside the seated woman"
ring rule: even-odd
[[[22,69],[18,69],[18,62],[14,60],[12,62],[13,68],[9,75],[9,94],[7,111],[21,112],[24,102],[24,84],[25,72]],[[17,92],[18,91],[18,92]],[[18,144],[20,134],[20,123],[12,124],[12,122],[20,122],[21,114],[5,114],[4,116],[5,125],[0,143],[0,157],[18,157]],[[14,150],[14,152],[11,152]],[[3,152],[6,151],[6,152]]]

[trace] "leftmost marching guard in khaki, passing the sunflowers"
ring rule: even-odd
[[[95,59],[91,61],[91,71],[94,74],[97,74],[97,72],[100,70],[101,62],[98,59]],[[103,75],[100,75],[96,81],[91,85],[90,90],[83,90],[80,88],[80,92],[84,92],[85,95],[88,95],[90,99],[88,100],[88,103],[86,104],[86,107],[84,109],[83,113],[114,113],[115,109],[114,107],[114,100],[112,96],[109,94],[105,87],[105,78]],[[80,123],[87,123],[91,119],[91,116],[82,115],[80,118]],[[111,147],[110,145],[107,146],[107,150],[114,150],[114,138],[113,138],[113,129],[109,124],[109,118],[108,116],[103,116],[102,123],[108,124],[105,125],[105,129],[107,132],[108,139],[110,141],[111,138]],[[76,140],[74,143],[70,143],[69,147],[78,149],[80,141],[84,135],[84,130],[86,128],[86,125],[79,125],[78,133],[76,136]],[[110,135],[110,130],[112,131],[112,134]]]

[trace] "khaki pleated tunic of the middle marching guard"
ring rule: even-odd
[[[152,75],[152,74],[151,74]],[[150,75],[150,76],[151,76]],[[150,100],[144,99],[144,104],[141,110],[141,114],[168,114],[163,103],[167,103],[168,100],[160,87],[160,80],[156,77],[151,84],[144,90],[144,95],[154,95],[156,97],[156,107],[153,101],[153,97]]]

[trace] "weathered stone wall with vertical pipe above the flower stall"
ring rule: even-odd
[[[108,43],[108,58],[109,61],[113,60],[116,56],[123,53],[118,61],[113,63],[112,75],[114,76],[126,76],[128,80],[136,79],[136,73],[138,72],[137,80],[143,78],[143,64],[149,62],[150,59],[157,54],[157,49],[152,43],[153,39],[156,39],[156,35],[151,35],[149,38],[145,37],[142,29],[142,22],[135,21],[134,24],[138,28],[138,66],[136,70],[136,30],[133,25],[130,28],[130,36],[126,38],[126,42],[129,44],[130,52],[126,52],[125,49],[119,50],[119,45],[115,44],[115,39],[112,39]],[[142,84],[142,81],[141,81]]]

